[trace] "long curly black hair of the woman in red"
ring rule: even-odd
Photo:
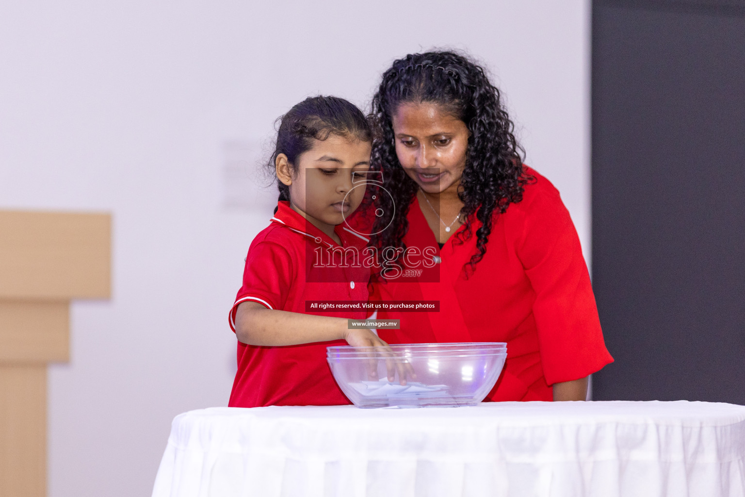
[[[475,270],[486,253],[495,209],[504,213],[510,203],[520,202],[523,187],[533,178],[524,171],[524,150],[515,139],[514,124],[501,104],[499,90],[489,82],[481,66],[452,51],[409,54],[393,62],[383,73],[370,115],[376,135],[372,169],[381,169],[384,176],[386,169],[402,169],[396,156],[391,117],[401,104],[422,102],[439,104],[447,113],[466,123],[471,132],[466,168],[458,189],[458,197],[465,204],[460,211],[465,228],[458,233],[457,242],[463,244],[472,236],[475,215],[482,223],[476,230],[478,253],[467,263]],[[405,174],[393,176],[403,177],[403,180],[386,182],[391,197],[380,196],[381,208],[385,212],[395,212],[393,221],[390,218],[378,220],[380,226],[375,227],[375,232],[379,233],[373,236],[373,244],[405,248],[402,238],[408,231],[406,216],[418,186]],[[384,229],[382,224],[389,221],[390,227]]]

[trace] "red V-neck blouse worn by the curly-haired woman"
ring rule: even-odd
[[[439,300],[439,312],[379,311],[401,329],[381,329],[391,344],[507,342],[507,362],[486,401],[553,400],[551,384],[584,378],[613,361],[607,351],[580,240],[559,191],[536,171],[523,200],[495,215],[486,254],[466,279],[476,253],[472,235],[440,250],[416,197],[408,212],[407,247],[437,253],[419,277],[374,285],[377,300]],[[425,206],[426,208],[426,206]],[[437,261],[438,257],[434,260]],[[434,273],[433,273],[434,271]]]

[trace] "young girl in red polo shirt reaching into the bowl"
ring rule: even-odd
[[[229,316],[238,338],[230,406],[349,404],[326,346],[386,346],[370,329],[349,329],[347,319],[364,319],[364,310],[311,307],[367,301],[370,269],[329,261],[367,243],[344,221],[364,197],[371,142],[365,116],[343,98],[307,98],[282,116],[270,162],[279,203],[251,243]]]

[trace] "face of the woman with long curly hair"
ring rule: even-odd
[[[427,193],[457,191],[471,135],[466,123],[432,102],[401,104],[391,121],[406,174]]]

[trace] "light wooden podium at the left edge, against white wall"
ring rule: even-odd
[[[0,211],[0,496],[46,495],[47,364],[69,360],[70,301],[110,297],[110,268],[109,215]]]

